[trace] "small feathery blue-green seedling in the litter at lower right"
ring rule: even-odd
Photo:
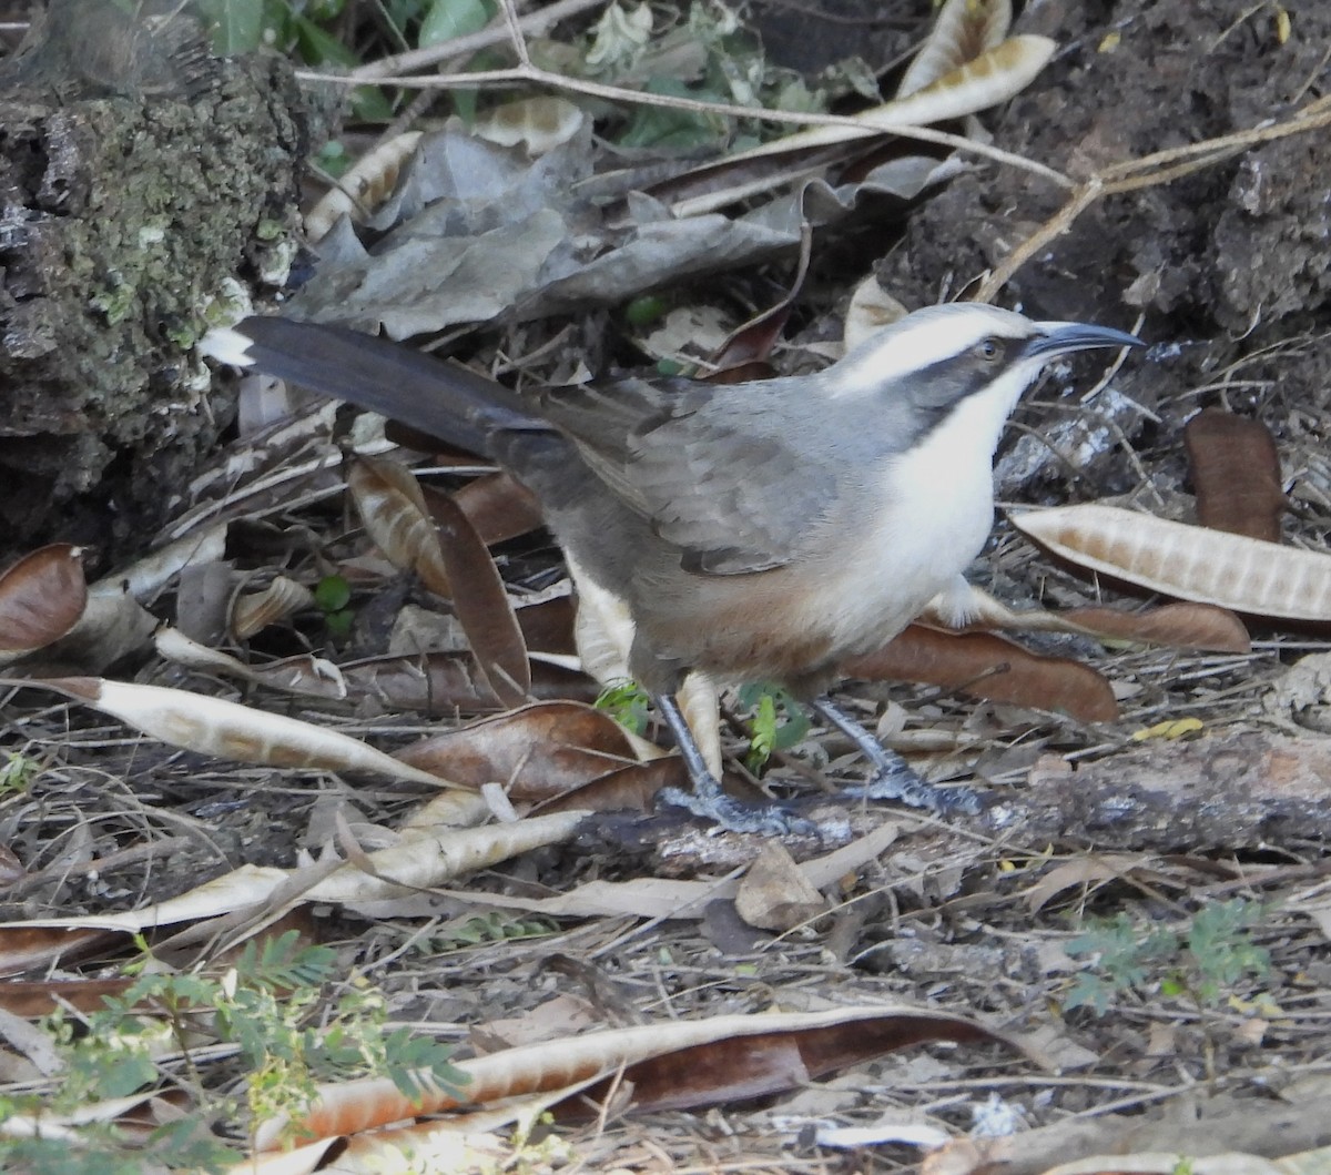
[[[1086,933],[1067,945],[1069,955],[1089,962],[1066,1006],[1103,1014],[1118,992],[1155,987],[1199,1011],[1211,1008],[1243,979],[1270,974],[1270,954],[1252,941],[1252,927],[1267,913],[1259,902],[1235,898],[1199,910],[1182,931],[1143,930],[1125,913],[1090,919]]]

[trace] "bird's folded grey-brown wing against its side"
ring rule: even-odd
[[[797,426],[779,426],[765,396],[749,393],[622,380],[554,389],[542,408],[600,481],[680,548],[685,570],[740,576],[799,560],[837,494],[833,469],[797,458]]]

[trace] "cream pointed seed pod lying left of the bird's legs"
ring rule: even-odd
[[[198,754],[274,767],[371,771],[434,787],[461,786],[335,730],[221,698],[95,677],[43,678],[32,685],[85,702],[168,746]]]

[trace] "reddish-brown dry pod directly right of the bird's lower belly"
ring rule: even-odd
[[[843,669],[849,677],[928,682],[996,702],[1071,714],[1082,722],[1118,717],[1114,691],[1090,666],[1041,657],[992,633],[940,633],[910,625],[877,653],[857,657]]]

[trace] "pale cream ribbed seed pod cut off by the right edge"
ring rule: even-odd
[[[1331,619],[1331,556],[1117,506],[1013,516],[1054,554],[1151,591],[1284,619]]]

